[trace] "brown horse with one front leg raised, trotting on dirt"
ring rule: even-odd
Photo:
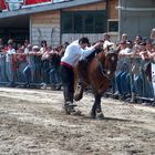
[[[83,96],[83,90],[92,87],[95,101],[90,116],[103,118],[101,108],[101,96],[111,85],[117,64],[117,53],[114,50],[100,50],[95,55],[91,55],[87,61],[81,61],[75,68],[79,74],[80,87],[75,89],[74,100],[79,101]],[[75,73],[75,74],[76,74]]]

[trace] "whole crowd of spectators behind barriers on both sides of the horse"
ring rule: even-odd
[[[148,39],[136,35],[128,40],[127,34],[122,34],[117,43],[110,40],[107,33],[103,34],[103,49],[112,46],[118,52],[118,62],[115,76],[112,81],[114,97],[127,102],[136,102],[136,96],[154,99],[154,87],[151,65],[155,60],[155,29]],[[0,85],[7,83],[14,87],[23,83],[24,87],[39,84],[45,87],[61,89],[59,64],[68,42],[56,48],[41,41],[41,45],[31,45],[28,40],[23,44],[16,44],[9,40],[3,45],[0,39]]]

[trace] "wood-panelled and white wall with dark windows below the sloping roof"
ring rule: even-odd
[[[52,45],[65,41],[72,42],[83,35],[87,37],[91,42],[100,40],[102,34],[107,32],[107,21],[117,22],[114,2],[113,0],[108,9],[106,1],[100,1],[32,14],[30,40],[38,44],[43,39]],[[117,23],[115,29],[114,31],[117,31]],[[114,31],[111,31],[112,38],[117,37],[117,32]]]

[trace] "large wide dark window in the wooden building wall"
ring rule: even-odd
[[[103,33],[106,31],[106,11],[62,12],[62,33]]]

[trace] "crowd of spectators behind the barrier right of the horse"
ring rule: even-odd
[[[113,43],[108,40],[108,44]],[[113,95],[127,102],[136,99],[154,99],[154,80],[152,64],[155,59],[155,29],[151,38],[136,35],[133,41],[122,34],[116,44],[118,52],[117,69],[113,80]]]

